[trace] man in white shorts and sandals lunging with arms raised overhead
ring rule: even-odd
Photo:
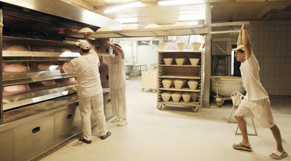
[[[287,156],[282,146],[282,139],[279,128],[276,126],[268,93],[259,81],[259,63],[251,50],[250,40],[246,31],[249,25],[242,25],[237,42],[237,48],[232,50],[236,52],[237,61],[242,62],[240,70],[242,73],[242,85],[246,96],[242,100],[235,118],[242,132],[242,142],[232,145],[239,150],[252,151],[247,136],[244,116],[256,118],[263,128],[270,128],[277,143],[276,150],[270,154],[273,159],[282,159]]]

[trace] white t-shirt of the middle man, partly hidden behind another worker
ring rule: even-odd
[[[109,69],[109,88],[117,89],[126,86],[126,75],[125,75],[125,56],[119,54],[113,55],[102,55],[102,62],[108,64]]]

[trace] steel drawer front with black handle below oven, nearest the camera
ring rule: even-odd
[[[54,115],[14,129],[15,161],[27,161],[54,146]]]

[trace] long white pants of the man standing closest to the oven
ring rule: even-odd
[[[103,105],[103,93],[92,97],[80,97],[79,96],[79,107],[82,117],[82,131],[84,134],[84,139],[91,140],[91,112],[95,114],[97,125],[100,135],[105,135],[107,133],[106,119],[104,115],[104,105]],[[92,107],[92,108],[91,108]]]

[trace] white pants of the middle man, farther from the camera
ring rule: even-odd
[[[119,119],[126,119],[126,87],[110,89],[111,90],[111,106],[113,116],[117,116]]]

